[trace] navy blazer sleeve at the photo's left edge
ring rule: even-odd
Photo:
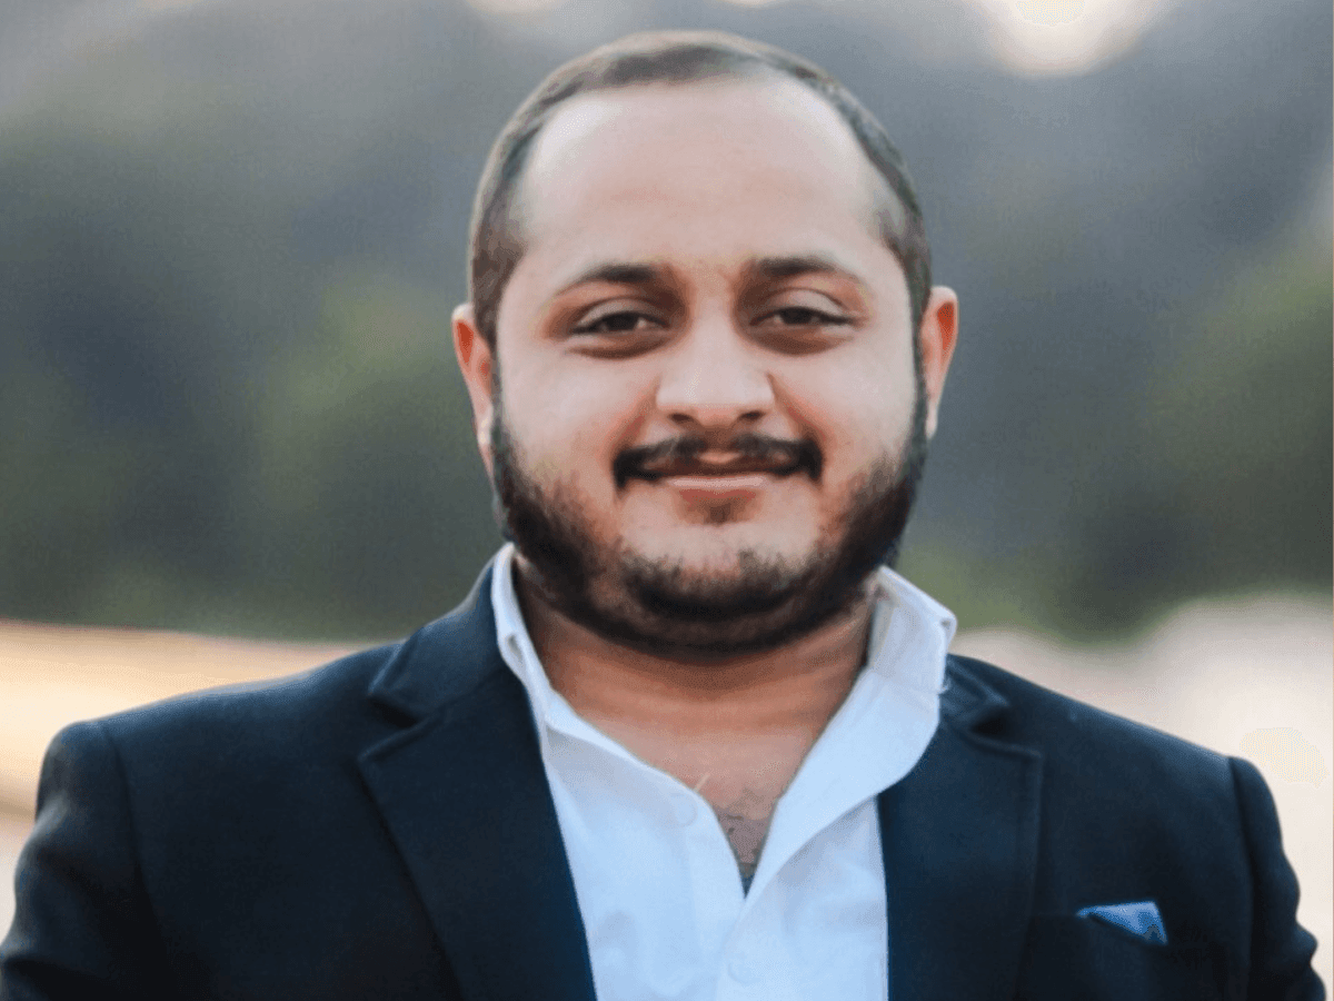
[[[47,750],[15,905],[0,1001],[167,996],[125,777],[101,723],[76,723]]]

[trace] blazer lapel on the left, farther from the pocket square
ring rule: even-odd
[[[594,1001],[574,880],[523,686],[500,659],[491,573],[384,667],[407,729],[359,758],[464,996]]]

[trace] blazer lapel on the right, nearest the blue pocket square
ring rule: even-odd
[[[891,1001],[1009,1000],[1018,977],[1042,755],[982,735],[1007,703],[964,663],[922,761],[879,797]]]

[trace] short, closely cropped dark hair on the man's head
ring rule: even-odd
[[[523,171],[534,140],[555,108],[582,93],[763,73],[796,80],[832,107],[888,184],[896,204],[878,211],[880,238],[907,278],[916,330],[931,292],[931,248],[903,156],[875,116],[818,65],[774,45],[723,32],[654,31],[630,35],[559,67],[519,105],[491,147],[472,207],[468,259],[468,294],[478,332],[487,344],[495,348],[500,296],[523,256],[516,219]]]

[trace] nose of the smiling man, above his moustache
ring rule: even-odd
[[[719,318],[696,323],[671,354],[658,408],[682,430],[728,432],[774,408],[774,386],[756,346]]]

